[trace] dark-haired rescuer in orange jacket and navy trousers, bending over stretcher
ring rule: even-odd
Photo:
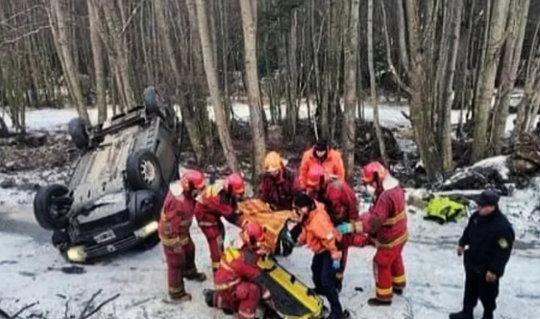
[[[298,245],[307,245],[315,254],[311,264],[315,293],[328,299],[330,319],[346,318],[349,315],[341,307],[336,287],[336,272],[341,267],[342,257],[338,249],[341,234],[330,221],[324,206],[307,194],[297,194],[293,206],[300,222],[291,230],[290,237]]]

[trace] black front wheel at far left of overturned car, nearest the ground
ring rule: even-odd
[[[57,184],[38,189],[33,208],[39,226],[48,230],[68,226],[68,211],[71,205],[68,193],[67,187]]]

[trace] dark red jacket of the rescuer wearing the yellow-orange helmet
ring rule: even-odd
[[[281,166],[279,175],[265,174],[260,185],[260,199],[269,203],[275,211],[292,209],[294,193],[300,191],[294,172]]]

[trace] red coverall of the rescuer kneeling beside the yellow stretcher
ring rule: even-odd
[[[217,293],[214,305],[238,313],[239,319],[255,317],[259,301],[270,297],[269,292],[261,296],[261,270],[257,266],[259,255],[244,246],[240,249],[227,247],[214,275]]]

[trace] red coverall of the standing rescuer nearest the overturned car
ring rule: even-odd
[[[191,240],[195,200],[189,195],[175,197],[167,193],[159,219],[159,237],[163,243],[168,272],[168,289],[172,298],[185,294],[183,277],[197,274],[195,245]]]

